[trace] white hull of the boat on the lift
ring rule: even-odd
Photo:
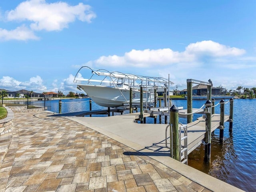
[[[78,85],[98,105],[104,107],[118,107],[130,104],[130,90],[124,88]],[[143,102],[146,103],[146,92],[143,93]],[[148,94],[148,103],[154,102],[152,94]],[[140,104],[140,91],[132,91],[132,103]]]

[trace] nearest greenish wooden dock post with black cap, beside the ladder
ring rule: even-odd
[[[170,108],[170,136],[172,136],[171,157],[180,161],[179,110],[175,105]]]

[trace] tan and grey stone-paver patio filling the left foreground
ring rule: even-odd
[[[0,164],[0,192],[210,191],[96,130],[50,115],[47,111],[14,114],[12,136],[4,140],[0,136],[0,148],[10,142]],[[241,191],[227,186],[233,192]],[[223,191],[221,187],[212,191]]]

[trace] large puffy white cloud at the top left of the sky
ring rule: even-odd
[[[14,10],[6,12],[8,21],[32,22],[32,30],[59,31],[68,28],[76,18],[90,23],[96,14],[89,5],[79,3],[70,6],[66,2],[46,3],[45,0],[28,0],[20,3]]]

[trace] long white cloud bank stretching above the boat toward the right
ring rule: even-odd
[[[93,63],[96,66],[134,66],[140,68],[170,66],[174,64],[179,66],[184,66],[185,64],[196,66],[204,62],[202,58],[214,60],[231,56],[238,57],[242,54],[245,54],[245,50],[235,47],[231,48],[209,40],[191,43],[183,52],[174,51],[170,48],[131,50],[123,56],[101,56],[97,60],[89,61],[88,63]]]

